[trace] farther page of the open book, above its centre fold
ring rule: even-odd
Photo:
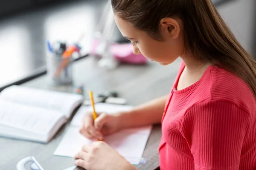
[[[81,103],[83,97],[58,91],[47,91],[22,86],[11,86],[0,93],[0,98],[63,113],[70,117],[74,107]]]

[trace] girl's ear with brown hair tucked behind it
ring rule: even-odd
[[[165,40],[176,39],[180,34],[180,24],[174,18],[163,18],[160,21],[160,31]]]

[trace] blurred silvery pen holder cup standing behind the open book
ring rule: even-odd
[[[50,54],[47,60],[47,79],[50,85],[55,86],[73,84],[73,58]]]

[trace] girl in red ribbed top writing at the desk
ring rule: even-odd
[[[183,62],[168,97],[100,114],[95,122],[86,114],[80,132],[102,139],[161,122],[161,170],[255,170],[256,62],[211,0],[112,0],[112,6],[135,54],[161,65]],[[75,163],[87,170],[135,169],[104,142],[84,146]]]

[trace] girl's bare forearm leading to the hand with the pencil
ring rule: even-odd
[[[119,113],[121,128],[161,123],[167,96],[139,105],[131,111]]]

